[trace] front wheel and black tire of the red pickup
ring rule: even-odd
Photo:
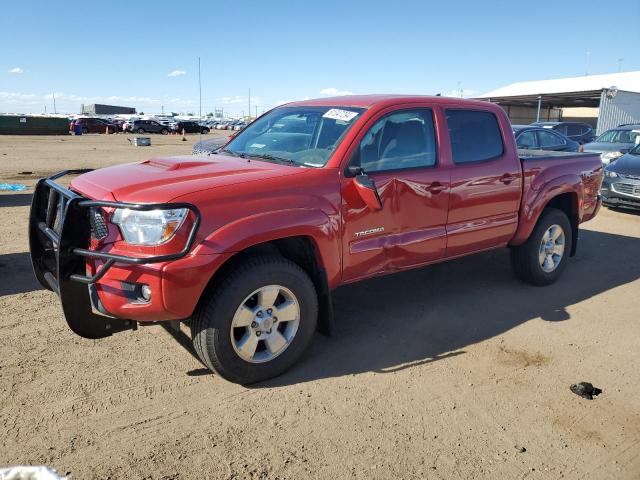
[[[275,290],[277,297],[269,293]],[[252,296],[256,292],[265,293]],[[207,367],[234,383],[247,385],[282,374],[304,353],[316,329],[318,297],[313,282],[283,257],[249,257],[205,295],[192,317],[193,346]],[[267,310],[270,304],[273,308]],[[271,316],[272,312],[276,313]],[[236,322],[242,326],[233,327]],[[242,348],[253,344],[253,354],[251,348]]]

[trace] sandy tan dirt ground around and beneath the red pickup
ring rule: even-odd
[[[0,183],[182,154],[196,140],[0,137]],[[29,191],[32,191],[30,188]],[[67,328],[28,256],[30,194],[0,194],[0,467],[73,479],[640,478],[640,216],[603,209],[553,286],[489,252],[343,287],[337,328],[251,388],[184,333]],[[593,401],[569,391],[587,380]]]

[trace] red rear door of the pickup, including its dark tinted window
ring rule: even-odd
[[[522,169],[507,122],[481,109],[447,108],[451,196],[447,257],[506,245],[516,231]],[[501,125],[506,125],[504,130]]]

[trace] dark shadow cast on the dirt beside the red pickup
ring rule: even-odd
[[[638,238],[583,230],[578,254],[548,287],[519,282],[506,249],[342,287],[333,336],[316,335],[292,370],[254,388],[394,372],[462,355],[534,318],[570,321],[571,305],[640,278],[639,251]]]

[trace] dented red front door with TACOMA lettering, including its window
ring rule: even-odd
[[[345,178],[344,281],[435,261],[446,249],[449,171],[438,165],[432,110],[395,110],[370,125],[350,167],[375,182],[382,208],[367,207]]]

